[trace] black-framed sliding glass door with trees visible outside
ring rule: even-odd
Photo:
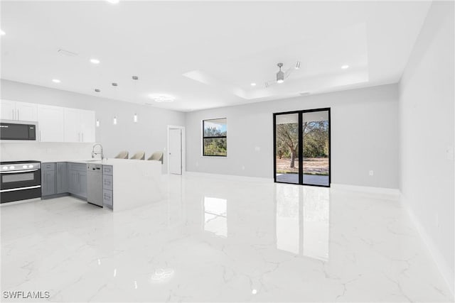
[[[275,182],[330,186],[330,109],[274,114]]]

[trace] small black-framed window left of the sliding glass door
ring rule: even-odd
[[[226,157],[228,155],[227,119],[202,121],[203,155]]]

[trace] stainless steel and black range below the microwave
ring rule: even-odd
[[[41,197],[41,162],[0,162],[0,203]]]

